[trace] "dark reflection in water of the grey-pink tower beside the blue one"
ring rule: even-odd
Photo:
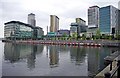
[[[88,75],[94,76],[100,69],[100,49],[88,48]]]

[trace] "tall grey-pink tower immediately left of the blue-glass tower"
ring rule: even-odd
[[[99,7],[92,6],[88,9],[88,27],[99,27]]]

